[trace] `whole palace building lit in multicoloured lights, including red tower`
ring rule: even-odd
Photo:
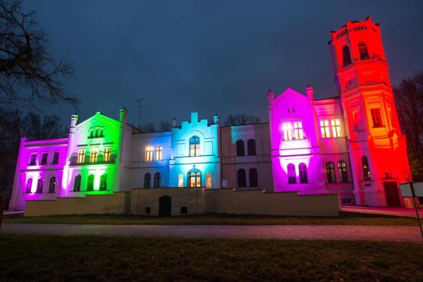
[[[371,18],[348,21],[330,35],[338,94],[314,99],[308,85],[277,97],[269,90],[268,123],[221,126],[217,115],[209,121],[192,113],[170,131],[140,133],[121,109],[118,120],[100,112],[86,121],[71,116],[67,138],[23,138],[11,209],[152,188],[337,194],[340,204],[405,205],[398,186],[412,178],[380,26]]]

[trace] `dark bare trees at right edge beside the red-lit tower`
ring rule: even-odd
[[[403,80],[393,91],[413,177],[423,180],[423,71]]]

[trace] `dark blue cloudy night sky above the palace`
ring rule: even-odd
[[[73,62],[66,90],[82,119],[118,118],[145,97],[141,123],[218,113],[267,121],[266,92],[287,87],[336,95],[329,30],[372,16],[381,24],[391,81],[423,70],[423,1],[25,1],[50,37],[51,55]],[[76,110],[42,106],[65,125]]]

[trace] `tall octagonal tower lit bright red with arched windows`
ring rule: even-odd
[[[405,204],[399,183],[411,180],[379,24],[372,18],[347,22],[328,42],[343,115],[355,202],[368,206]]]

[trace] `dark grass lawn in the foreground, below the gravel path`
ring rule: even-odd
[[[423,244],[0,235],[0,281],[423,281]]]

